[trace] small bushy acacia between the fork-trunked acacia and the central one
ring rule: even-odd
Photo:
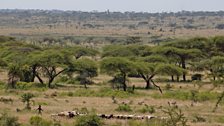
[[[87,88],[87,84],[92,82],[91,78],[98,75],[98,66],[95,61],[83,58],[74,62],[74,71],[79,74],[80,84]]]

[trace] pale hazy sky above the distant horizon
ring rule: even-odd
[[[224,0],[0,0],[0,9],[176,12],[224,10]]]

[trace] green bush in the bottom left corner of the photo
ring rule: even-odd
[[[0,126],[20,126],[20,124],[17,117],[3,113],[0,115]]]

